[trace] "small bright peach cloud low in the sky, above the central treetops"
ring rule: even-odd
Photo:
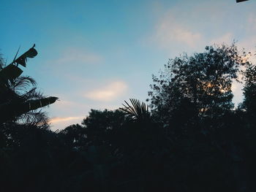
[[[128,86],[125,82],[116,81],[103,88],[89,91],[84,96],[95,101],[112,101],[127,91],[127,88]]]

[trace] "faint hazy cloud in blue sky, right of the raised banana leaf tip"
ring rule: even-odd
[[[59,83],[73,82],[75,87],[78,86],[77,82],[81,83],[81,80],[85,82],[86,77],[91,77],[105,62],[102,55],[86,48],[64,47],[59,53],[58,51],[52,58],[45,61],[40,73],[41,75],[50,73],[52,79]]]

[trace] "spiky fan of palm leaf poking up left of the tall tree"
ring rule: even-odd
[[[150,112],[148,106],[144,102],[140,102],[138,99],[129,99],[131,105],[127,102],[123,104],[124,107],[120,107],[127,115],[134,120],[148,120],[150,118]]]

